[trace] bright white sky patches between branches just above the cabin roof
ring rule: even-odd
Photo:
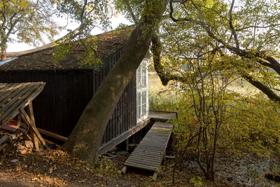
[[[66,22],[66,20],[59,19],[59,20],[57,20],[57,22],[60,25],[64,25],[64,22]],[[120,25],[120,23],[123,23],[125,25],[132,25],[132,22],[129,22],[128,20],[126,20],[123,17],[123,15],[118,15],[118,17],[113,17],[111,19],[111,22],[112,22],[113,29],[116,29],[116,27],[118,27],[118,25]],[[73,23],[69,24],[66,29],[74,30],[77,27],[78,27],[78,23],[73,22]],[[62,32],[60,32],[57,36],[55,36],[55,40],[60,39],[62,36],[66,35],[67,34],[66,29],[62,30]],[[92,34],[95,35],[95,34],[100,34],[102,32],[106,32],[106,31],[102,31],[102,29],[99,29],[99,28],[96,27],[96,29],[94,29],[92,31]],[[51,41],[48,41],[48,39],[45,40],[45,44],[50,43],[50,42]],[[20,51],[24,51],[24,50],[30,50],[30,49],[33,49],[33,48],[36,48],[36,47],[28,45],[27,43],[16,43],[16,42],[15,43],[8,43],[7,53],[20,52]]]

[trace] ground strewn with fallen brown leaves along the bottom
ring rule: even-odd
[[[127,174],[119,173],[129,154],[122,152],[115,158],[103,159],[99,165],[95,166],[71,158],[66,152],[59,149],[37,151],[24,155],[18,154],[16,156],[2,155],[0,159],[0,186],[172,186],[173,167],[171,165],[175,161],[174,158],[167,159],[158,179],[153,181],[149,175],[151,173],[137,169],[129,169]],[[230,176],[233,179],[226,176],[227,169],[223,167],[240,169],[241,165],[244,165],[244,161],[232,162],[230,161],[232,159],[218,159],[218,168],[223,170],[225,176],[217,176],[216,181],[206,181],[202,177],[203,186],[246,186],[245,184],[249,184],[248,181],[244,181],[243,184],[240,183],[242,177],[246,179],[253,177],[251,176],[252,173],[248,171],[241,174],[241,178],[237,177],[236,172],[236,176]],[[251,163],[260,165],[258,161],[251,160]],[[223,174],[223,172],[220,172],[220,174]],[[195,186],[195,183],[198,185],[199,181],[197,176],[201,176],[201,173],[194,162],[184,161],[176,169],[175,176],[175,186]],[[254,176],[254,179],[259,180],[260,176]],[[192,182],[194,177],[196,182],[194,180]],[[267,181],[263,181],[263,179],[258,181],[260,186],[262,184],[273,186],[273,183],[266,183],[268,184],[266,185],[265,182]]]

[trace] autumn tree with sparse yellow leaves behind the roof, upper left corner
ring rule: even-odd
[[[0,2],[0,48],[8,42],[24,42],[38,46],[44,36],[52,40],[59,30],[53,20],[55,1],[3,0]],[[48,11],[47,11],[48,10]],[[11,37],[15,36],[15,37]],[[3,57],[1,57],[3,60]]]

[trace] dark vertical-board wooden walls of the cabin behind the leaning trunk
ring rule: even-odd
[[[93,69],[0,71],[0,83],[45,82],[34,99],[34,115],[39,128],[68,137],[83,109],[122,51],[104,60],[99,71]],[[118,137],[136,122],[136,79],[133,76],[106,127],[102,144]]]

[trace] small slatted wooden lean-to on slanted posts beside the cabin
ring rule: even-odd
[[[36,129],[32,100],[43,90],[45,83],[0,83],[0,127],[18,116],[28,126],[36,150],[39,144],[48,148]]]

